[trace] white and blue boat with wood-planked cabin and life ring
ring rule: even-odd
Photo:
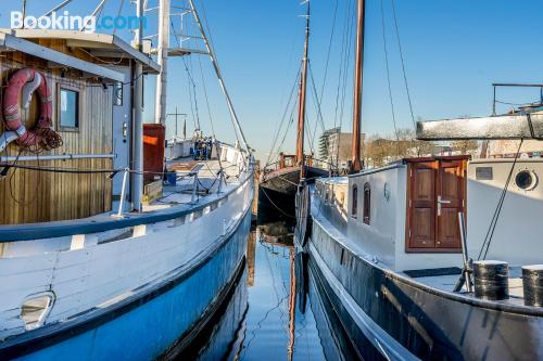
[[[164,68],[143,50],[0,33],[2,360],[168,357],[243,273],[252,156],[213,139],[205,159],[144,167],[160,137],[143,137],[142,77]]]

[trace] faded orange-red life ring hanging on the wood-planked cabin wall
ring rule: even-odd
[[[26,92],[27,102],[23,104],[23,107],[26,108],[29,106],[31,94],[36,90],[40,101],[40,115],[36,127],[26,129],[21,119],[20,96],[22,91]],[[8,89],[5,89],[2,111],[5,128],[18,136],[17,144],[20,146],[37,145],[43,149],[55,149],[62,145],[62,139],[51,128],[52,95],[43,74],[30,68],[20,69],[13,74],[8,82]]]

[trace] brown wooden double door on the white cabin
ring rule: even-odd
[[[459,252],[467,156],[408,159],[407,252]]]

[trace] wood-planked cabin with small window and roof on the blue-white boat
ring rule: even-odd
[[[62,145],[54,150],[23,150],[14,141],[1,154],[8,172],[0,179],[0,224],[85,218],[112,209],[121,194],[122,176],[110,179],[108,172],[58,170],[105,171],[129,165],[130,80],[136,62],[143,63],[144,73],[159,70],[148,55],[114,36],[67,30],[0,33],[2,95],[17,69],[39,70],[52,93],[52,129],[62,138]],[[28,109],[22,109],[27,129],[36,127],[38,116],[35,92]],[[4,121],[0,123],[3,133]]]

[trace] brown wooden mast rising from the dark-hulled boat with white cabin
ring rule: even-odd
[[[362,118],[362,87],[364,67],[364,15],[366,1],[358,0],[356,27],[356,60],[354,67],[354,109],[353,109],[353,141],[351,144],[351,172],[362,170],[361,162],[361,118]]]

